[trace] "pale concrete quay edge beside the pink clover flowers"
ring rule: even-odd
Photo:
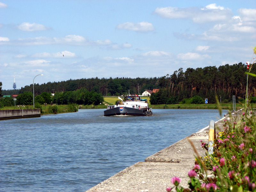
[[[223,117],[215,122],[216,130],[222,130]],[[209,121],[210,122],[210,121]],[[200,156],[205,155],[200,140],[208,143],[208,127],[189,135],[149,156],[145,162],[138,162],[120,171],[86,192],[160,192],[173,187],[172,177],[181,179],[180,186],[188,188],[188,172],[195,164],[195,152],[191,140]]]

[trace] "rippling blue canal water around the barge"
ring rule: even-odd
[[[84,192],[221,118],[206,109],[154,109],[148,117],[103,111],[0,121],[0,191]]]

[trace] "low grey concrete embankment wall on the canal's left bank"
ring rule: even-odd
[[[0,120],[28,117],[40,117],[40,109],[0,110]]]

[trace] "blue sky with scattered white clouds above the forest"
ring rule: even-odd
[[[245,64],[255,45],[255,0],[0,0],[4,90]]]

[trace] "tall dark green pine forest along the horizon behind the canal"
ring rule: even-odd
[[[220,67],[204,68],[179,68],[172,75],[162,77],[116,77],[116,78],[83,78],[61,82],[48,82],[35,84],[35,95],[43,92],[60,93],[74,92],[86,89],[88,92],[99,93],[103,96],[120,96],[125,94],[141,94],[145,90],[159,89],[152,94],[151,100],[157,104],[185,103],[194,96],[208,98],[209,103],[215,103],[215,95],[222,102],[232,101],[232,96],[244,99],[246,92],[247,76],[246,65],[243,63],[223,65]],[[251,73],[256,74],[253,66]],[[248,79],[248,94],[255,97],[256,78],[250,76]],[[18,92],[18,93],[17,93]],[[33,92],[33,84],[27,85],[19,90],[3,90],[4,95]],[[65,94],[64,94],[65,96]]]

